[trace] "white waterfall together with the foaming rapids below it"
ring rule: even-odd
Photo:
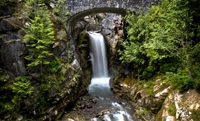
[[[101,100],[99,100],[100,105],[106,107],[106,109],[109,108],[111,113],[103,116],[104,121],[133,121],[126,109],[117,102],[113,102],[113,93],[109,86],[110,77],[104,37],[100,33],[88,33],[91,43],[90,56],[93,72],[93,78],[89,85],[89,94],[101,97]],[[92,118],[91,121],[100,121],[100,119]]]

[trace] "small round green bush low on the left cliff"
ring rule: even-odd
[[[13,102],[17,103],[24,98],[31,97],[33,95],[34,87],[30,83],[30,79],[27,76],[18,76],[15,82],[10,85],[12,92],[15,94]]]

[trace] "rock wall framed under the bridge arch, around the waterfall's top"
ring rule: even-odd
[[[85,31],[85,32],[83,32]],[[89,38],[87,37],[87,31],[94,31],[103,34],[106,40],[107,53],[108,53],[108,63],[109,63],[109,72],[113,76],[118,73],[121,68],[120,62],[118,60],[117,48],[119,42],[124,38],[124,19],[121,15],[111,14],[111,13],[99,13],[95,15],[90,15],[82,18],[78,21],[73,30],[73,39],[77,43],[77,47],[80,50],[85,50],[89,53]],[[85,38],[83,33],[86,33]],[[84,40],[84,48],[81,44]],[[80,52],[82,53],[82,52]],[[82,58],[79,54],[79,58]],[[83,59],[88,58],[89,54],[84,56]],[[82,61],[81,61],[82,62]]]

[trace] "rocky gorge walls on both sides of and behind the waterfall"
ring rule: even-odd
[[[41,121],[84,121],[89,119],[90,113],[96,113],[95,110],[85,112],[95,106],[98,98],[91,98],[87,94],[92,78],[88,31],[104,35],[109,72],[112,76],[111,89],[116,97],[125,99],[132,105],[132,113],[137,121],[200,119],[200,94],[197,90],[180,92],[159,76],[154,77],[151,83],[138,81],[134,78],[134,72],[129,65],[119,61],[117,51],[121,47],[120,41],[126,38],[126,31],[125,17],[118,14],[99,13],[81,18],[74,26],[71,35],[73,40],[69,40],[65,29],[56,26],[54,15],[56,41],[52,45],[52,52],[68,64],[63,64],[63,67],[69,67],[61,70],[65,77],[64,81],[59,82],[56,87],[56,84],[52,83],[44,91],[40,87],[41,75],[27,67],[24,59],[29,53],[29,48],[22,41],[26,34],[23,28],[30,24],[30,20],[21,9],[23,6],[22,0],[16,5],[0,8],[0,75],[4,76],[0,82],[0,92],[3,94],[0,98],[0,120],[26,121],[31,118]],[[14,83],[18,76],[30,78],[34,95],[23,97],[13,103],[16,92],[7,85]],[[109,113],[109,110],[102,110],[101,114],[94,115],[100,117],[103,113]]]

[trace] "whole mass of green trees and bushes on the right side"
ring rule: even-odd
[[[139,78],[167,72],[175,88],[198,88],[200,22],[195,3],[199,2],[162,0],[144,13],[129,13],[120,60],[132,63]]]

